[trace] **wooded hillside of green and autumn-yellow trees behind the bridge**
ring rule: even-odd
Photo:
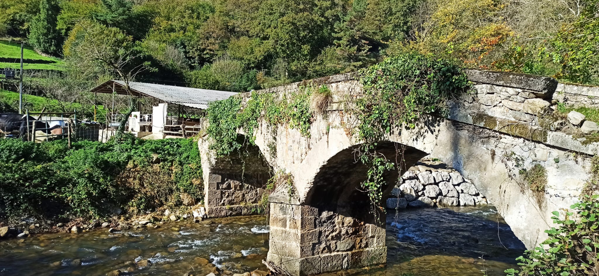
[[[58,10],[44,2],[53,1],[2,1],[0,35],[53,38],[44,45],[57,45],[72,69],[62,78],[89,86],[121,77],[110,62],[70,55],[72,46],[105,38],[104,48],[114,48],[112,38],[123,35],[128,45],[117,48],[143,56],[133,65],[158,69],[138,81],[217,90],[350,72],[410,51],[599,84],[599,0],[63,0]],[[56,22],[41,20],[50,11]]]

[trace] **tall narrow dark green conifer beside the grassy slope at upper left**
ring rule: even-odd
[[[56,30],[60,7],[56,0],[41,0],[40,13],[31,22],[29,43],[46,54],[57,54],[60,36]]]

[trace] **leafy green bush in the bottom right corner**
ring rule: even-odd
[[[547,240],[518,257],[521,269],[507,269],[508,276],[598,275],[599,195],[585,195],[570,208],[564,219],[553,211],[558,227],[546,230]]]

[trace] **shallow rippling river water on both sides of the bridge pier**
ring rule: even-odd
[[[268,227],[261,216],[165,223],[162,228],[108,233],[44,234],[0,242],[0,275],[204,276],[213,266],[265,270]],[[495,208],[419,208],[387,216],[388,264],[352,275],[505,275],[524,245]],[[206,260],[211,263],[205,263]],[[149,260],[149,266],[143,266]],[[331,274],[329,274],[331,275]]]

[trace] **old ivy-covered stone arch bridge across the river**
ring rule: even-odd
[[[599,88],[516,73],[467,72],[475,91],[451,100],[447,118],[427,116],[413,129],[397,126],[377,144],[387,158],[404,160],[401,171],[385,175],[392,185],[384,197],[398,176],[431,155],[471,179],[531,249],[546,237],[543,231],[552,225],[551,212],[564,211],[577,200],[598,146],[584,145],[584,139],[560,130],[563,121],[547,122],[545,115],[557,102],[599,106],[592,97],[599,96]],[[294,276],[385,263],[385,219],[380,219],[384,214],[373,214],[360,189],[367,167],[356,160],[361,141],[351,134],[355,119],[344,104],[361,90],[355,75],[253,93],[289,93],[306,84],[326,85],[333,95],[326,114],[312,122],[310,137],[261,121],[253,133],[256,146],[226,158],[208,150],[209,137],[199,141],[207,214],[252,214],[259,210],[259,201],[268,199],[268,260]],[[247,100],[250,95],[242,97]],[[521,168],[535,164],[546,169],[544,191],[531,191],[519,175]],[[263,198],[273,172],[286,173],[293,181],[277,185]]]

